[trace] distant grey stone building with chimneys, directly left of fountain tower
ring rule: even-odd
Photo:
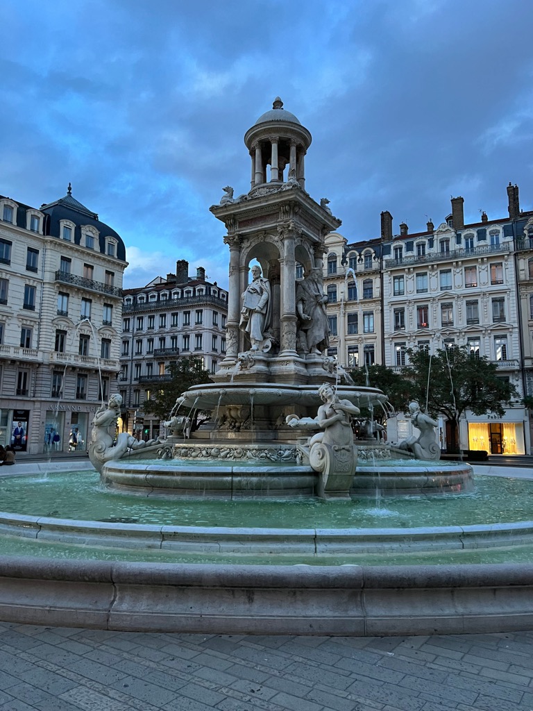
[[[205,269],[188,276],[189,264],[176,262],[176,274],[156,277],[146,287],[124,290],[119,393],[122,429],[139,439],[159,434],[158,419],[145,403],[168,383],[169,363],[197,355],[215,373],[226,353],[227,291],[205,279]]]

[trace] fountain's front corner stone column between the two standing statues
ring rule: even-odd
[[[294,223],[286,228],[279,228],[283,239],[284,251],[281,257],[281,338],[280,356],[298,355],[296,353],[296,282],[294,247],[296,242]]]

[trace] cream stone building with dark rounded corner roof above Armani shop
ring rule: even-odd
[[[41,208],[0,196],[0,218],[0,444],[61,451],[77,430],[83,449],[119,370],[124,243],[70,185]]]

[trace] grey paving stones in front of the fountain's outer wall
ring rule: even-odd
[[[144,634],[0,623],[0,711],[533,710],[533,632]]]

